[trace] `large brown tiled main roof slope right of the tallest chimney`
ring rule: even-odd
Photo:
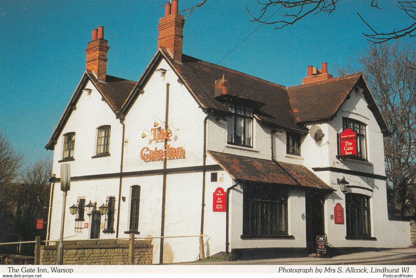
[[[286,87],[188,55],[182,55],[182,62],[177,62],[167,50],[160,50],[202,107],[226,111],[224,105],[213,98],[215,80],[224,75],[230,94],[265,103],[260,112],[269,116],[274,124],[300,129],[295,124]]]

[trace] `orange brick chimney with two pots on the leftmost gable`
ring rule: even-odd
[[[104,40],[104,27],[92,30],[91,42],[87,43],[87,70],[91,70],[98,80],[104,81],[107,71],[108,41]]]

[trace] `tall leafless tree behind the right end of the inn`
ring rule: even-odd
[[[399,42],[370,46],[356,62],[392,132],[384,137],[389,203],[405,216],[414,211],[416,194],[416,47]]]

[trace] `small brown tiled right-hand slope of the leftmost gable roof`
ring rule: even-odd
[[[116,112],[121,110],[121,107],[127,97],[129,97],[131,90],[137,83],[135,81],[111,75],[106,75],[106,82],[102,82],[98,81],[91,71],[87,70],[87,74],[97,89],[99,89],[105,97],[106,101],[110,104],[111,108]]]

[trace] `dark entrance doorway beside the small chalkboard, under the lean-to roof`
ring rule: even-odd
[[[325,233],[324,194],[314,190],[305,191],[306,248],[309,254],[316,253],[316,237]]]

